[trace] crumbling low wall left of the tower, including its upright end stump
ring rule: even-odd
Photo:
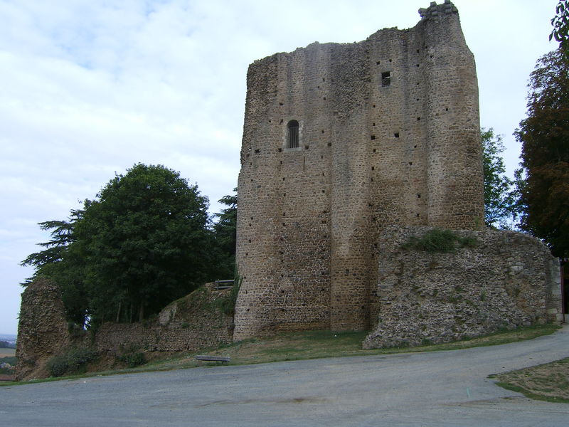
[[[16,380],[49,376],[46,363],[73,347],[89,347],[98,354],[97,370],[109,369],[116,357],[132,349],[149,357],[191,352],[231,342],[233,318],[224,315],[216,300],[230,290],[215,290],[213,284],[176,300],[156,320],[143,323],[105,323],[95,335],[68,330],[58,288],[38,280],[22,294],[16,357]]]

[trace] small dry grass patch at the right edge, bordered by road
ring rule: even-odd
[[[496,385],[531,399],[569,404],[569,357],[491,377],[498,379]]]

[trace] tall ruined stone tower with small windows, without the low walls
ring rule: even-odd
[[[233,339],[367,329],[385,226],[482,226],[474,57],[450,1],[419,13],[250,65]]]

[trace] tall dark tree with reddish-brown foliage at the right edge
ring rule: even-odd
[[[521,228],[546,241],[560,258],[569,256],[568,65],[560,50],[538,60],[530,75],[528,117],[514,134],[526,172]]]

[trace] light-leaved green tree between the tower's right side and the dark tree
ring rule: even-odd
[[[516,216],[514,181],[504,173],[504,152],[501,135],[494,129],[482,128],[482,165],[484,169],[484,223],[487,227],[509,228],[508,220]]]

